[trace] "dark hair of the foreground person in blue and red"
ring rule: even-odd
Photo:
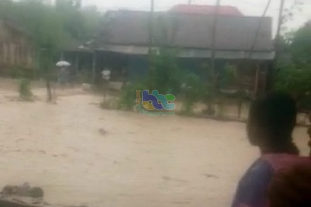
[[[256,123],[265,134],[271,147],[284,150],[292,147],[292,133],[296,125],[296,102],[290,95],[282,92],[271,93],[256,99],[249,112],[249,120]]]

